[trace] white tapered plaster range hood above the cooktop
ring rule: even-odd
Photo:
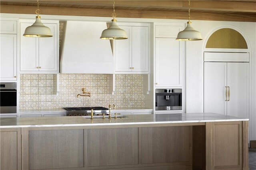
[[[60,73],[114,74],[110,41],[100,39],[106,22],[67,21],[60,47]]]

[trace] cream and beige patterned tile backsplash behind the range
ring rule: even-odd
[[[109,91],[109,74],[60,74],[58,95],[54,74],[21,74],[19,109],[59,109],[116,104],[117,107],[144,107],[143,76],[116,74],[114,95]],[[82,88],[91,97],[76,97]]]

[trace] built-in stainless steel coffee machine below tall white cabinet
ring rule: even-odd
[[[156,110],[182,110],[182,89],[156,89]]]

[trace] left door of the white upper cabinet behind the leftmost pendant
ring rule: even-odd
[[[30,25],[32,23],[20,23],[20,71],[38,71],[39,67],[39,38],[23,36],[26,27]]]

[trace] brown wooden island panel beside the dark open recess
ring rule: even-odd
[[[142,127],[141,163],[189,165],[192,161],[191,127]]]

